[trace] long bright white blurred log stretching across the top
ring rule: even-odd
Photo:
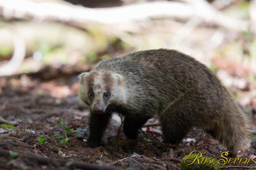
[[[205,0],[184,2],[156,1],[110,8],[87,8],[78,5],[30,0],[0,0],[1,14],[6,18],[27,18],[36,21],[52,20],[85,28],[90,23],[122,24],[150,18],[189,19],[197,16],[202,22],[216,24],[226,29],[241,31],[249,22],[225,16]]]

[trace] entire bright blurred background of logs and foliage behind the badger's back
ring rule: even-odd
[[[87,71],[128,52],[177,49],[240,98],[247,91],[240,104],[256,112],[255,36],[256,0],[1,0],[0,75]]]

